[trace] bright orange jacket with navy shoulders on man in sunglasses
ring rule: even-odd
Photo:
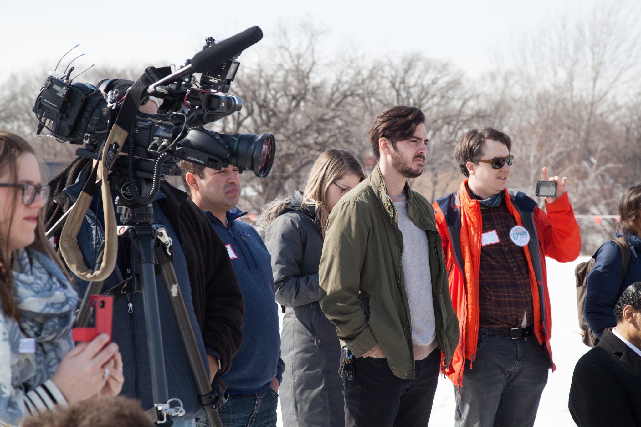
[[[455,193],[434,202],[437,226],[443,240],[449,292],[458,316],[460,341],[445,375],[456,385],[463,385],[465,359],[473,369],[479,332],[478,271],[481,262],[481,210],[479,201],[470,198],[462,182]],[[533,298],[534,330],[538,342],[544,344],[553,369],[550,337],[552,315],[545,271],[545,256],[559,262],[574,261],[581,249],[579,225],[574,218],[567,193],[551,204],[547,213],[537,202],[520,191],[505,189],[505,202],[517,224],[528,230],[530,239],[524,246],[528,260],[529,282]],[[535,238],[533,238],[535,236]]]

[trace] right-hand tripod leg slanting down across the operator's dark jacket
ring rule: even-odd
[[[194,376],[194,383],[196,383],[198,396],[201,396],[201,403],[203,404],[203,408],[207,414],[209,425],[211,427],[222,427],[221,417],[218,415],[217,407],[213,403],[216,396],[213,396],[212,394],[212,385],[210,384],[203,359],[200,355],[192,324],[189,321],[187,308],[185,307],[185,300],[183,299],[183,294],[181,293],[180,286],[178,285],[176,271],[174,271],[171,258],[165,251],[165,246],[157,245],[155,250],[156,262],[160,267],[160,273],[163,278],[163,283],[165,284],[165,290],[167,291],[167,296],[169,297],[169,302],[171,303],[176,323],[178,323],[180,336],[183,339],[183,344],[187,351],[187,358],[189,359],[189,365],[192,369],[192,375]]]

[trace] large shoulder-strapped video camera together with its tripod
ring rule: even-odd
[[[103,282],[116,265],[118,238],[133,242],[131,277],[105,294],[114,299],[131,292],[142,294],[154,399],[150,416],[158,425],[171,425],[172,417],[185,413],[179,399],[169,398],[167,392],[156,289],[158,271],[187,351],[201,406],[211,426],[222,425],[216,410],[222,402],[223,390],[220,385],[212,390],[172,266],[173,243],[165,227],[155,223],[152,202],[163,175],[179,175],[181,159],[215,169],[233,165],[240,172],[251,170],[258,177],[269,173],[275,150],[272,134],[229,135],[202,127],[242,108],[240,98],[221,92],[229,91],[240,65],[237,61],[240,52],[262,36],[260,28],[253,27],[218,43],[207,38],[203,50],[177,70],[147,68],[133,85],[127,83],[126,94],[122,93],[121,79],[102,81],[96,87],[73,83],[73,67],[65,72],[54,70],[45,79],[33,106],[38,118],[37,134],[46,128],[58,141],[85,144],[76,154],[97,160],[74,205],[47,232],[47,237],[51,237],[64,224],[58,239],[60,253],[74,275],[90,282],[76,326],[87,326],[91,296],[104,291]],[[200,78],[195,74],[201,74]],[[140,111],[139,107],[152,96],[162,99],[156,113]],[[119,156],[121,152],[128,156]],[[98,188],[104,240],[96,253],[103,255],[99,266],[88,268],[77,236]],[[118,225],[112,189],[118,193],[115,200],[121,221]]]

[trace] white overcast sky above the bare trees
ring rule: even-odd
[[[325,31],[323,54],[367,56],[421,52],[448,60],[472,76],[492,67],[497,49],[538,25],[576,17],[597,0],[461,1],[77,1],[2,0],[0,81],[27,68],[55,67],[76,44],[76,71],[92,63],[149,65],[182,63],[201,49],[205,36],[226,38],[253,25],[276,43],[279,26],[309,22]],[[74,55],[75,56],[75,55]],[[73,58],[71,53],[63,65]],[[251,53],[241,56],[251,61]],[[39,74],[39,73],[38,73]],[[241,72],[238,75],[242,76]],[[117,77],[117,76],[113,76]],[[10,84],[4,81],[4,84]]]

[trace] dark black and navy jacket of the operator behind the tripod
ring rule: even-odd
[[[77,158],[49,182],[52,192],[51,199],[44,209],[46,228],[51,227],[71,206],[72,200],[68,197],[68,193],[63,192],[63,189],[69,188],[76,182],[85,165],[87,165],[87,159]],[[188,290],[187,294],[183,291],[183,296],[196,339],[201,346],[201,356],[204,357],[206,351],[217,357],[221,362],[221,373],[225,373],[231,367],[231,359],[237,353],[242,341],[244,303],[237,277],[226,248],[203,211],[193,204],[186,193],[166,182],[162,182],[161,192],[163,197],[153,202],[156,208],[160,208],[154,209],[154,214],[156,217],[166,218],[169,222],[168,231],[172,230],[176,234],[174,246],[179,246],[175,254],[181,259],[174,260],[174,266],[179,278],[185,275],[188,278],[181,281],[180,286],[181,289],[185,287]],[[99,243],[102,239],[102,226],[96,215],[88,212],[85,221],[90,227],[85,227],[83,224],[81,232],[93,234]],[[58,235],[59,233],[60,231]],[[85,236],[85,239],[87,237]],[[85,241],[79,239],[79,245],[82,250],[87,245],[93,247],[94,243],[88,242],[85,245]],[[87,257],[86,252],[87,250],[83,250],[85,262],[90,263],[91,255]],[[122,264],[124,255],[119,258],[121,258],[119,264]],[[117,284],[121,276],[120,269],[115,268],[110,278],[106,280],[103,291]],[[80,292],[83,293],[82,288],[86,286],[86,282],[79,285]],[[128,387],[123,389],[123,393],[142,398],[144,405],[147,405],[147,400],[151,397],[149,394],[151,387],[146,380],[149,376],[149,369],[146,367],[148,362],[142,360],[146,359],[144,319],[140,317],[142,310],[131,309],[131,305],[134,307],[138,305],[139,297],[140,295],[122,298],[115,303],[113,338],[114,341],[119,341],[123,362],[128,365],[125,366],[125,373],[129,376],[126,379]],[[161,323],[165,325],[163,326],[163,347],[170,392],[180,396],[190,396],[190,401],[185,403],[185,407],[188,408],[187,415],[193,417],[196,412],[201,411],[197,409],[199,404],[197,404],[195,386],[191,381],[187,361],[183,360],[186,359],[183,345],[177,333],[178,330],[173,327],[175,321],[165,319],[165,317],[172,318],[166,294],[158,293],[158,303],[161,308]],[[176,351],[168,352],[168,348],[176,348]],[[187,375],[189,381],[171,381],[180,373]]]

